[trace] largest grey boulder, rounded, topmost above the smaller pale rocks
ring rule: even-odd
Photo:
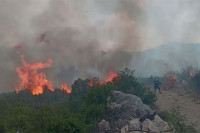
[[[113,119],[142,118],[145,115],[153,114],[154,111],[147,105],[143,104],[142,100],[131,94],[125,94],[120,91],[113,91],[114,102],[109,104],[110,116]]]

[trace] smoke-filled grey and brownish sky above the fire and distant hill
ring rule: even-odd
[[[51,57],[49,79],[71,82],[127,67],[133,52],[200,43],[199,12],[199,0],[0,0],[0,89],[19,80],[17,53]]]

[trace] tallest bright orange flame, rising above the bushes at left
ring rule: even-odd
[[[47,63],[29,64],[24,58],[24,55],[21,55],[23,66],[16,68],[16,72],[22,80],[19,86],[15,88],[16,93],[22,90],[29,90],[33,95],[43,94],[45,90],[54,92],[52,83],[46,79],[45,73],[38,73],[38,70],[51,67],[53,60],[49,58]]]

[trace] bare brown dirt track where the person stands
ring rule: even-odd
[[[161,111],[168,110],[172,107],[179,107],[181,114],[186,119],[197,124],[197,130],[200,131],[200,99],[195,94],[188,93],[184,89],[162,90],[158,94],[157,105]]]

